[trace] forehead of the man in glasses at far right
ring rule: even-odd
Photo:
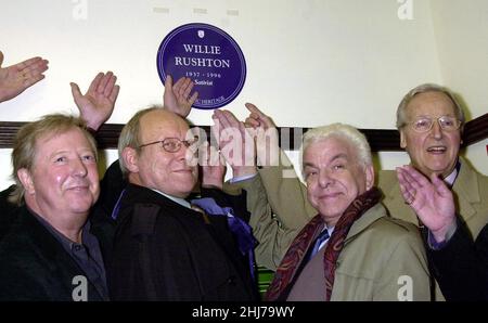
[[[454,103],[442,92],[429,91],[419,93],[407,105],[407,114],[410,117],[444,115],[455,116]]]

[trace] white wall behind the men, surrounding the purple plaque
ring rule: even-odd
[[[483,65],[487,56],[468,56],[474,60],[468,65],[453,65],[463,52],[455,56],[444,52],[449,43],[442,40],[448,39],[444,29],[452,24],[445,20],[459,8],[446,10],[441,3],[452,1],[460,7],[461,1],[433,0],[435,10],[431,1],[411,1],[413,20],[403,21],[398,17],[401,3],[397,0],[1,0],[4,65],[42,55],[50,61],[50,69],[46,80],[0,105],[0,120],[25,121],[50,112],[75,112],[69,81],[77,81],[84,90],[98,70],[111,69],[121,90],[110,122],[127,121],[139,108],[160,102],[157,48],[170,30],[191,22],[224,29],[242,48],[247,80],[226,107],[240,118],[246,115],[244,103],[253,102],[279,126],[347,121],[360,128],[394,128],[402,94],[426,81],[452,82],[476,106],[487,102],[480,85],[475,91],[474,80],[454,83],[457,77],[450,76],[452,69],[473,73],[464,69]],[[476,29],[478,37],[486,36],[483,27],[488,16],[477,8],[485,10],[487,4],[471,1],[475,4],[466,4],[472,9],[457,24],[465,33]],[[86,18],[77,20],[85,4]],[[476,21],[473,15],[481,16]],[[473,46],[488,49],[483,41]],[[190,118],[210,125],[210,115],[194,111]],[[0,188],[9,183],[9,154],[10,150],[0,151]],[[480,159],[475,163],[487,164],[486,155],[475,158]],[[408,158],[403,153],[382,153],[381,160],[391,168]],[[486,168],[481,171],[488,173]]]

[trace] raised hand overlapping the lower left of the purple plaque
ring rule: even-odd
[[[165,92],[163,94],[163,103],[165,108],[185,118],[190,114],[193,103],[198,98],[198,92],[190,93],[193,89],[193,81],[189,77],[181,77],[177,82],[172,83],[172,77],[168,75],[165,81]]]

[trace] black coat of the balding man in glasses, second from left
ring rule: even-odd
[[[223,194],[223,193],[222,193]],[[129,184],[107,281],[113,300],[256,300],[248,262],[226,217],[205,217]]]

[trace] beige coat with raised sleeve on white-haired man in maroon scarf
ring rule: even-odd
[[[270,172],[277,169],[264,169],[260,175],[272,178],[277,175]],[[282,179],[281,176],[279,178]],[[293,183],[286,179],[284,190],[286,184]],[[248,192],[249,224],[259,242],[255,249],[256,261],[275,270],[296,234],[309,221],[303,217],[303,211],[299,212],[305,205],[290,193],[280,195],[274,190],[267,194],[260,176],[226,185],[226,191],[236,188]],[[269,203],[267,196],[272,198]],[[277,196],[284,197],[281,198],[283,204],[277,202]],[[306,196],[303,197],[306,201]],[[275,217],[270,207],[273,202],[278,203],[275,212],[288,217]],[[297,205],[297,202],[301,204]],[[288,207],[288,211],[282,212],[284,207]],[[309,211],[309,215],[317,215],[313,208]],[[294,212],[296,217],[292,216]],[[404,276],[411,277],[413,300],[429,299],[428,269],[419,230],[411,223],[387,216],[381,204],[351,227],[337,262],[332,300],[397,300]]]

